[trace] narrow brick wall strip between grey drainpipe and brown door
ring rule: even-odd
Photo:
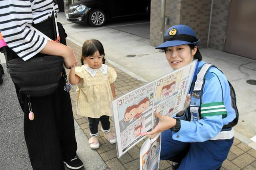
[[[228,30],[230,2],[228,0],[215,0],[213,2],[208,47],[223,51],[225,45],[224,36],[226,36]]]

